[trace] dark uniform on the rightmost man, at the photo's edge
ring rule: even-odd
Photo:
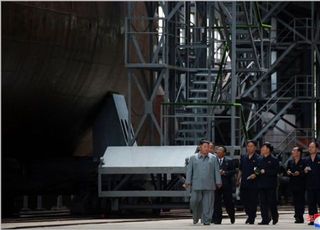
[[[311,171],[306,173],[306,189],[309,215],[313,218],[313,215],[318,213],[317,204],[320,207],[320,155],[317,154],[314,161],[310,156],[306,157],[305,165],[311,168]]]

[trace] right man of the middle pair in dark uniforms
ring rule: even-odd
[[[273,147],[266,142],[261,147],[261,156],[258,162],[258,188],[260,196],[260,208],[262,221],[259,225],[277,224],[279,219],[277,208],[277,176],[279,172],[279,161],[272,156]]]

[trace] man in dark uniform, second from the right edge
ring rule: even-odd
[[[290,190],[293,196],[295,223],[303,223],[305,204],[305,162],[302,159],[302,149],[294,147],[291,152],[291,159],[287,165],[287,175],[290,177]]]

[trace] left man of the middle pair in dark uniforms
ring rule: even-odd
[[[254,224],[258,206],[258,184],[254,169],[260,156],[256,148],[256,141],[247,141],[247,154],[241,156],[239,165],[237,184],[240,184],[240,199],[248,216],[246,224]]]

